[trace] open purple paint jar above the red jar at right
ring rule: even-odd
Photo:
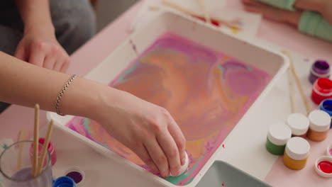
[[[309,74],[309,81],[311,84],[314,84],[316,79],[321,77],[330,77],[330,64],[325,60],[316,60],[314,64],[312,64]]]

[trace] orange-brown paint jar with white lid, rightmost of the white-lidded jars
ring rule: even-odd
[[[320,110],[311,111],[309,113],[309,130],[306,133],[312,141],[320,142],[326,139],[328,130],[330,129],[331,117],[328,113]]]

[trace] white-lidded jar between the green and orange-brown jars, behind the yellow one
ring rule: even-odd
[[[292,136],[305,137],[309,129],[309,119],[301,113],[292,113],[286,120],[287,125],[292,130]]]

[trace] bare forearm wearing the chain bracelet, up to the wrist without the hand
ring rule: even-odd
[[[0,101],[55,111],[55,100],[69,74],[37,67],[0,52]],[[77,78],[65,91],[60,111],[95,118],[105,94],[116,98],[117,91],[87,79]],[[97,107],[99,106],[99,107]]]

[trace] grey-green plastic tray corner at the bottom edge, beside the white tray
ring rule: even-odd
[[[270,187],[267,183],[237,169],[231,164],[216,161],[203,176],[197,187]]]

